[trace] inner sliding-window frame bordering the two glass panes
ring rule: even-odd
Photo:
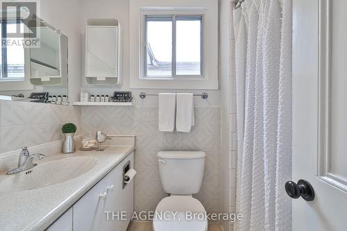
[[[141,71],[143,71],[143,78],[144,79],[201,79],[204,78],[204,73],[205,73],[205,69],[204,69],[204,60],[205,60],[205,53],[204,53],[204,15],[202,13],[186,13],[186,14],[167,14],[167,15],[163,15],[163,14],[144,14],[142,17],[143,18],[143,22],[144,22],[144,33],[143,33],[143,44],[144,44],[144,51],[143,53],[143,58],[142,58],[142,62],[143,62],[143,67],[141,67]],[[149,20],[150,17],[153,18],[171,18],[171,20],[168,20],[167,22],[171,22],[172,26],[172,33],[171,33],[171,41],[172,41],[172,52],[171,52],[171,75],[148,75],[147,74],[147,53],[148,53],[148,33],[147,33],[147,23],[150,22],[151,20]],[[196,21],[200,22],[200,74],[196,75],[196,74],[192,74],[192,75],[183,75],[183,74],[177,74],[176,73],[176,22],[180,21],[179,18],[199,18]],[[177,19],[178,18],[178,19]],[[159,20],[160,21],[160,20]],[[189,20],[187,20],[189,21]],[[160,21],[160,22],[164,22]]]

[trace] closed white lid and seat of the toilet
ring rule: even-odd
[[[164,212],[166,212],[165,218],[169,219],[164,219]],[[171,212],[177,212],[176,216],[174,217]],[[192,212],[191,216],[187,216],[187,212]],[[155,214],[158,214],[153,219],[153,230],[155,231],[205,231],[208,229],[205,208],[200,201],[191,196],[163,198],[155,208]],[[191,220],[193,217],[196,219]]]

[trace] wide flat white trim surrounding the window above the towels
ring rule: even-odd
[[[215,0],[130,0],[130,89],[219,89],[219,4]],[[204,15],[203,78],[144,78],[143,15]]]

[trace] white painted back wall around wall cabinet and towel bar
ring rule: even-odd
[[[118,19],[119,23],[123,28],[123,57],[122,57],[122,76],[123,85],[121,87],[94,87],[91,85],[86,85],[84,78],[84,73],[81,76],[81,83],[83,85],[83,90],[90,92],[91,94],[112,94],[116,89],[129,90],[129,69],[130,69],[130,58],[137,59],[137,57],[130,57],[129,52],[129,1],[128,0],[85,0],[81,3],[81,13],[82,13],[82,24],[79,29],[81,33],[81,44],[84,46],[84,33],[85,24],[87,19]],[[81,53],[84,65],[84,48]],[[84,70],[84,69],[83,69]],[[84,72],[84,71],[83,71]],[[158,106],[158,97],[148,97],[144,100],[139,99],[139,92],[193,92],[200,94],[204,92],[203,90],[180,90],[180,89],[131,89],[134,96],[135,105],[141,106]],[[194,103],[198,106],[217,106],[220,105],[219,91],[206,91],[209,94],[208,100],[202,100],[195,97]]]

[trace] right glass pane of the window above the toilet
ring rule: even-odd
[[[176,17],[176,75],[201,75],[201,19]]]

